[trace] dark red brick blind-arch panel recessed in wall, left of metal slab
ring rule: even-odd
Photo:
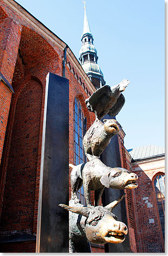
[[[1,235],[33,234],[42,88],[30,80],[17,99],[5,181]]]

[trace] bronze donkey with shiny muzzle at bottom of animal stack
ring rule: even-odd
[[[83,253],[91,252],[89,242],[121,243],[125,240],[127,227],[123,222],[117,220],[112,210],[119,204],[125,195],[119,197],[111,204],[96,207],[85,207],[75,203],[74,199],[69,205],[60,204],[69,214],[69,252]]]

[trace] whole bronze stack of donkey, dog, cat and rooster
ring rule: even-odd
[[[111,138],[117,135],[121,126],[115,119],[100,120],[106,114],[117,115],[125,98],[121,94],[130,81],[122,80],[117,86],[103,86],[96,90],[88,99],[86,105],[89,111],[95,113],[95,121],[83,137],[83,147],[88,162],[73,166],[70,175],[72,197],[69,206],[60,204],[69,214],[69,252],[91,252],[90,242],[121,243],[125,240],[127,227],[117,220],[112,210],[121,202],[125,195],[114,202],[100,206],[104,188],[114,189],[135,188],[138,186],[138,176],[124,168],[111,168],[100,160],[100,155],[107,147]],[[87,206],[83,206],[77,197],[77,191],[83,185]],[[91,203],[91,191],[95,191],[95,204]]]

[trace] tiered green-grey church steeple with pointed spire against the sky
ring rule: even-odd
[[[83,2],[85,4],[85,2]],[[86,15],[86,7],[83,22],[83,33],[81,36],[82,47],[79,52],[80,63],[86,74],[94,84],[95,88],[98,89],[105,85],[104,75],[98,65],[98,55],[96,48],[93,45],[93,35],[89,27],[89,23]]]

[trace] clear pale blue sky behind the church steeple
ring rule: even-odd
[[[59,36],[79,57],[84,9],[82,0],[17,0]],[[86,0],[86,12],[98,64],[106,84],[127,78],[126,99],[117,120],[125,147],[164,147],[163,0]]]

